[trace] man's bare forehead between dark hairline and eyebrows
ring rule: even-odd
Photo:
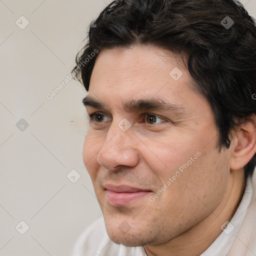
[[[104,49],[95,61],[88,95],[117,107],[126,99],[150,98],[189,107],[195,95],[202,96],[182,57],[152,45]]]

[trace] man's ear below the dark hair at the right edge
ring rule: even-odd
[[[256,153],[256,115],[252,114],[240,124],[232,136],[230,169],[238,170],[243,168]]]

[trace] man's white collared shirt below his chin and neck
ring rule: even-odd
[[[252,192],[251,177],[248,177],[242,199],[230,223],[200,256],[225,256],[227,254],[249,207]],[[82,232],[75,243],[72,256],[147,255],[143,247],[127,247],[112,242],[106,233],[103,217],[100,217]]]

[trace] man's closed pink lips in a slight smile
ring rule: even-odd
[[[104,192],[108,202],[113,206],[125,206],[132,202],[142,199],[152,191],[126,185],[105,184]]]

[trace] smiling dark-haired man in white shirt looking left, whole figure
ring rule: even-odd
[[[256,27],[234,0],[116,0],[76,58],[103,218],[73,255],[256,255]]]

